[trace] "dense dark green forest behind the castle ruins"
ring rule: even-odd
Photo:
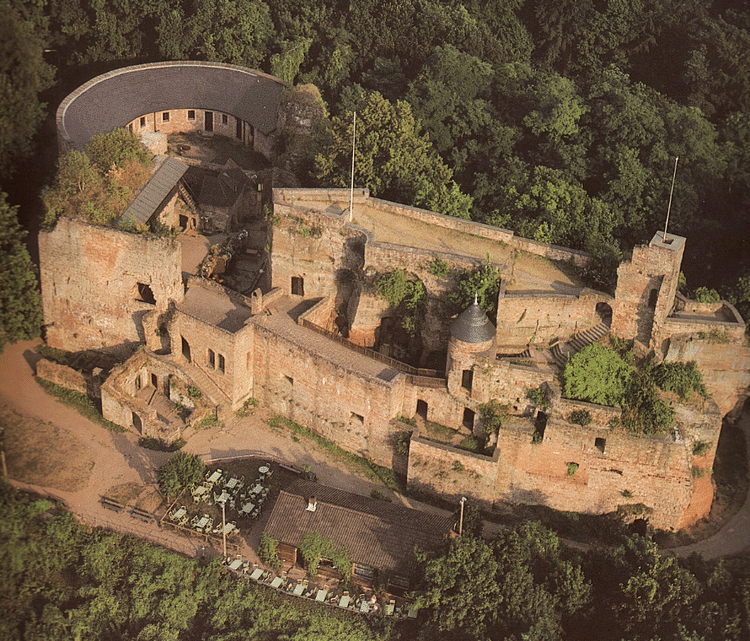
[[[304,184],[627,255],[687,236],[690,290],[750,309],[750,10],[727,0],[0,0],[0,170],[31,150],[37,95],[163,59],[312,83],[330,119]],[[56,75],[55,75],[56,74]],[[68,86],[72,89],[75,84]],[[57,98],[57,97],[56,97]],[[56,105],[51,105],[54,108]]]

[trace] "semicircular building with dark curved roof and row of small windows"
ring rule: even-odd
[[[60,152],[127,127],[137,134],[217,133],[269,155],[281,93],[268,74],[218,62],[173,61],[124,67],[81,85],[57,109]]]

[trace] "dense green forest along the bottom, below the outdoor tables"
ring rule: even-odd
[[[660,556],[633,536],[580,552],[536,522],[422,555],[417,620],[363,616],[81,526],[0,483],[0,637],[7,641],[741,641],[748,559]]]

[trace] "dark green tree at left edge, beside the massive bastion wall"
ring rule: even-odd
[[[23,242],[18,207],[0,192],[0,350],[6,342],[39,336],[42,305],[36,267]]]

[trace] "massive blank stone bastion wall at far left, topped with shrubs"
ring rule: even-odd
[[[40,232],[39,256],[52,347],[142,342],[143,315],[182,299],[182,251],[175,240],[61,218],[52,231]],[[149,291],[155,304],[144,300]]]

